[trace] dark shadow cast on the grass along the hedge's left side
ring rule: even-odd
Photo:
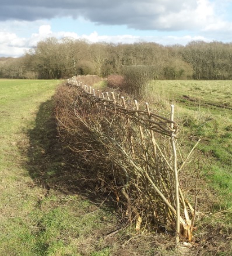
[[[26,164],[36,184],[47,191],[55,189],[65,194],[83,195],[93,202],[106,200],[95,193],[97,182],[78,160],[78,155],[59,141],[53,99],[40,105],[36,124],[27,131],[27,136],[30,146]]]

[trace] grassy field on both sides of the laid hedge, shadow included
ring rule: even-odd
[[[91,181],[86,186],[86,170],[57,137],[53,96],[61,82],[0,80],[0,255],[175,255],[167,234],[119,229],[111,199]],[[200,189],[209,199],[199,205],[210,207],[196,222],[198,246],[189,255],[232,253],[231,84],[154,81],[146,88],[147,101],[164,112],[174,103],[186,144],[201,138]]]

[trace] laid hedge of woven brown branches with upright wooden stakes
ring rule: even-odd
[[[136,100],[96,91],[76,78],[67,85],[66,95],[58,92],[56,115],[69,147],[95,165],[108,162],[97,177],[117,201],[125,202],[136,230],[162,226],[177,242],[180,237],[191,241],[195,211],[178,181],[187,159],[178,161],[174,106],[168,119],[150,110],[148,103],[142,109]],[[100,158],[104,161],[98,162]]]

